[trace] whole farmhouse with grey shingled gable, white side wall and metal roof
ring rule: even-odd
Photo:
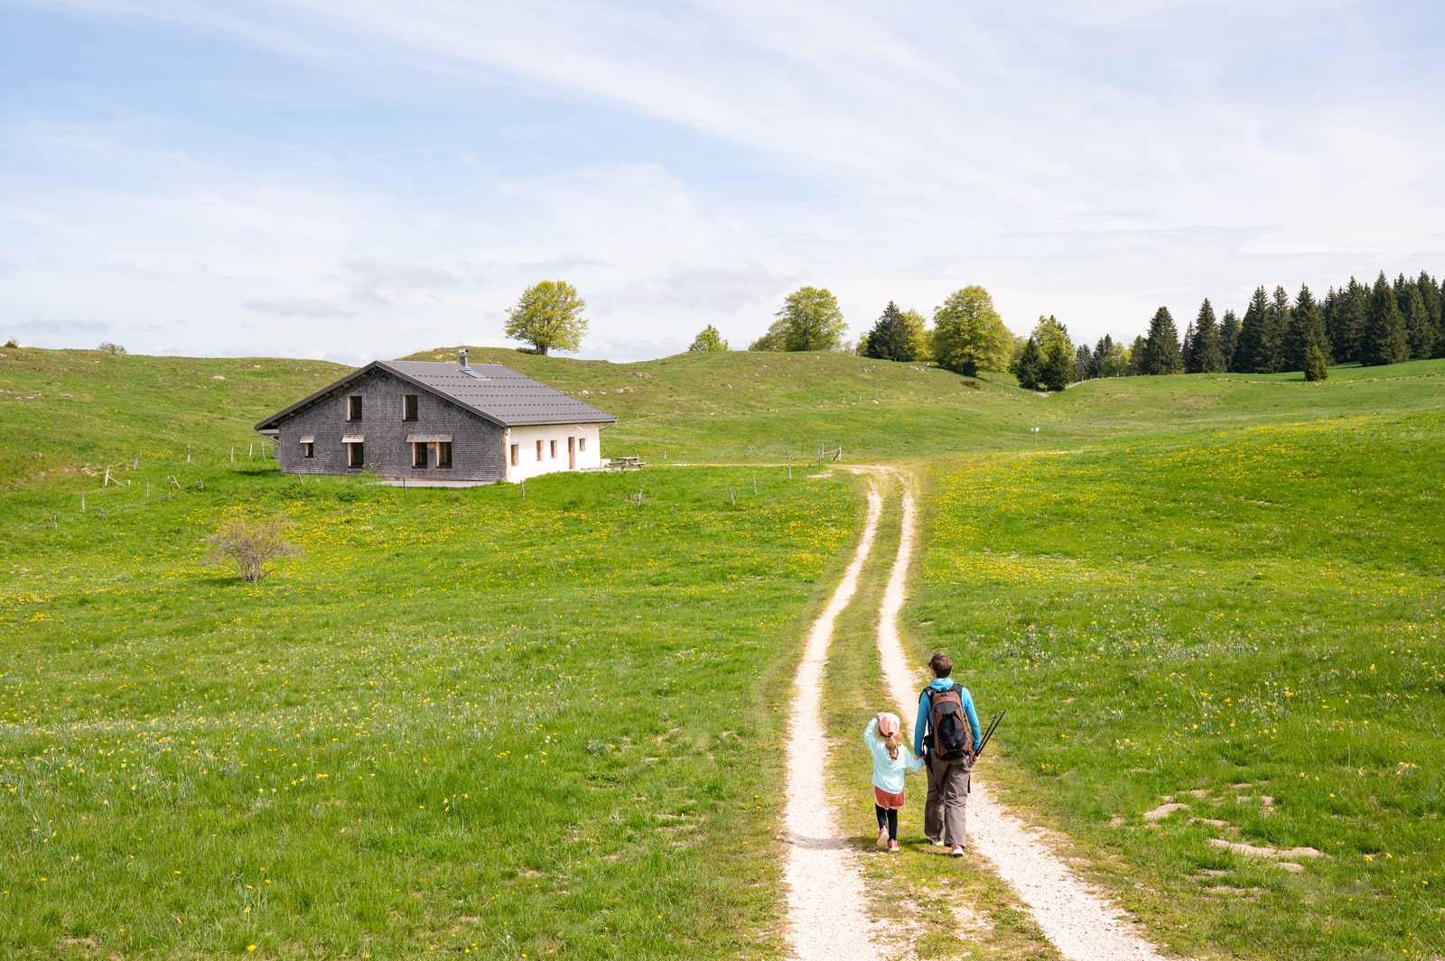
[[[256,424],[285,473],[415,483],[600,468],[617,418],[500,364],[373,361]]]

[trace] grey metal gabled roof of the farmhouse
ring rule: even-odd
[[[444,397],[500,427],[617,423],[611,414],[501,364],[475,364],[462,368],[457,364],[434,361],[373,361],[311,397],[296,401],[279,414],[267,417],[256,424],[256,430],[277,427],[290,414],[345,390],[347,385],[379,368]]]

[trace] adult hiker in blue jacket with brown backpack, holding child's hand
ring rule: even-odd
[[[923,834],[949,854],[962,856],[968,844],[968,779],[974,749],[980,743],[978,711],[968,688],[955,684],[954,659],[936,651],[928,667],[933,680],[918,697],[913,721],[913,753],[928,771],[928,801],[923,804]]]

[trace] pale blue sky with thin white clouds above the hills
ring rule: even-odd
[[[850,338],[981,284],[1075,342],[1445,273],[1445,4],[0,0],[0,338],[361,364]]]

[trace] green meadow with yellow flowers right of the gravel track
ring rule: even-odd
[[[1438,957],[1441,478],[1438,395],[939,459],[915,649],[1009,708],[996,776],[1170,949]]]

